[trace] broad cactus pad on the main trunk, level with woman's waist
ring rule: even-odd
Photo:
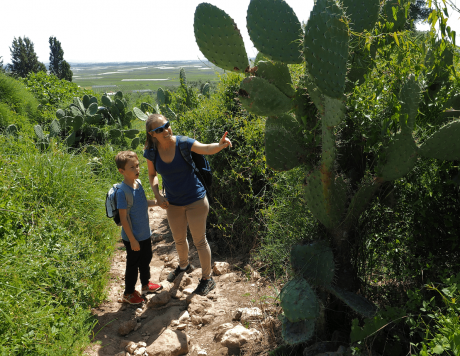
[[[342,221],[347,201],[347,187],[339,176],[326,178],[319,170],[315,170],[307,177],[305,199],[312,214],[326,228],[334,229]]]

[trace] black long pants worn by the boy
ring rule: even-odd
[[[123,240],[126,247],[125,295],[134,293],[139,273],[143,286],[149,284],[150,261],[152,261],[152,239],[138,241],[140,250],[131,250],[129,241]]]

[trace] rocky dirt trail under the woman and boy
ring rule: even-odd
[[[154,232],[153,259],[150,264],[151,281],[160,283],[165,287],[165,290],[169,290],[171,284],[166,281],[166,276],[177,266],[174,241],[164,210],[159,207],[151,208],[149,209],[149,217],[150,226]],[[190,289],[195,289],[201,277],[198,254],[190,237],[189,245],[190,262],[197,267],[193,273],[188,275],[191,278],[191,284],[187,285],[186,289],[179,292],[178,295],[175,295],[176,298],[171,298],[166,305],[151,309],[147,308],[147,303],[155,294],[147,295],[146,302],[142,306],[132,306],[119,302],[124,290],[126,253],[123,250],[124,246],[121,240],[117,243],[110,271],[110,283],[107,287],[108,298],[99,307],[92,310],[98,323],[93,330],[92,343],[84,351],[84,355],[123,355],[124,346],[128,341],[135,343],[143,341],[147,344],[148,349],[165,330],[170,329],[176,332],[177,319],[187,311],[190,306],[190,298],[194,297],[192,295],[187,298],[187,294]],[[210,245],[211,250],[213,250],[212,242]],[[194,325],[191,319],[188,322],[185,321],[186,327],[182,332],[188,335],[189,351],[182,354],[190,356],[239,354],[241,350],[238,352],[238,350],[229,350],[223,347],[220,342],[215,341],[215,336],[217,328],[224,323],[232,323],[233,326],[241,324],[241,321],[235,320],[234,317],[239,308],[245,307],[258,307],[264,316],[259,317],[258,320],[243,322],[243,326],[256,328],[262,335],[262,339],[257,342],[243,346],[244,353],[245,355],[267,354],[267,351],[276,345],[277,341],[277,337],[274,336],[277,333],[274,331],[277,328],[277,322],[273,318],[279,312],[273,298],[276,292],[265,279],[258,276],[258,273],[251,272],[249,269],[245,270],[241,261],[218,255],[216,252],[213,251],[212,254],[213,265],[214,262],[228,262],[230,271],[220,276],[214,276],[217,287],[207,296],[207,301],[212,309],[212,318],[206,323],[203,322],[198,325]],[[139,281],[136,289],[138,291],[141,289]],[[137,330],[129,332],[126,336],[120,335],[120,326],[130,320],[136,321],[134,325],[136,325]]]

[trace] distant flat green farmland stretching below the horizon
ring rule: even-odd
[[[188,82],[216,82],[218,73],[223,73],[207,61],[72,64],[71,68],[73,82],[95,92],[156,91],[159,87],[179,86],[181,68]]]

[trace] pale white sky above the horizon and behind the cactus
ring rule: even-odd
[[[313,0],[285,0],[299,21],[308,20]],[[2,6],[0,56],[11,60],[14,37],[28,37],[41,62],[49,61],[50,36],[61,42],[64,59],[85,62],[150,62],[205,59],[193,33],[198,0],[13,0]],[[224,10],[240,29],[249,57],[257,49],[246,29],[250,0],[207,0]],[[460,18],[448,25],[457,31]],[[427,28],[427,26],[419,26]]]

